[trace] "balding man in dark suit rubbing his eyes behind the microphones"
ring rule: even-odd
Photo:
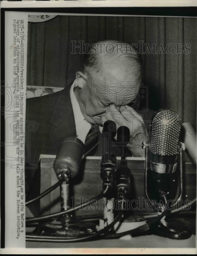
[[[26,147],[26,185],[31,185],[40,154],[56,155],[66,136],[77,135],[86,146],[94,122],[113,120],[117,127],[129,127],[128,148],[134,156],[144,156],[144,131],[139,129],[144,116],[128,106],[136,99],[141,77],[141,62],[133,48],[123,42],[103,41],[85,55],[83,69],[76,72],[71,85],[60,92],[28,99],[26,131],[31,130],[32,122],[35,129],[30,131]]]

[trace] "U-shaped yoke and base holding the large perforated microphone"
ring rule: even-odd
[[[147,134],[146,134],[147,135]],[[145,194],[149,202],[153,204],[154,206],[157,206],[159,208],[157,214],[161,215],[164,210],[166,209],[167,205],[167,193],[164,193],[163,191],[160,192],[159,197],[163,199],[164,205],[160,206],[156,200],[150,199],[148,195],[148,189],[147,189],[147,170],[149,169],[149,154],[150,154],[150,148],[149,148],[149,140],[148,136],[146,136],[146,163],[145,163]],[[183,144],[180,143],[179,145],[179,169],[180,169],[180,185],[179,185],[179,195],[177,199],[175,200],[175,204],[172,204],[171,207],[175,207],[179,200],[182,198],[183,194],[183,166],[182,166],[182,151],[184,150]],[[188,239],[191,237],[192,233],[188,229],[184,223],[178,220],[166,220],[166,216],[164,216],[159,223],[156,224],[155,227],[152,227],[151,229],[152,234],[155,234],[157,236],[161,237],[168,237],[171,239]]]

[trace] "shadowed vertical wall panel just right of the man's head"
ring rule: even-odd
[[[145,43],[153,52],[145,53],[146,80],[148,87],[148,106],[157,110],[165,107],[165,22],[164,18],[146,17],[146,38]],[[154,45],[155,44],[155,45]],[[161,51],[160,51],[161,49]],[[159,53],[157,53],[159,52]]]

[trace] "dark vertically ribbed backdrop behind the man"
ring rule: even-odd
[[[197,19],[170,17],[57,16],[28,23],[27,85],[65,87],[75,79],[82,54],[72,40],[95,43],[139,40],[152,45],[191,44],[190,54],[141,54],[151,109],[170,108],[196,125]]]

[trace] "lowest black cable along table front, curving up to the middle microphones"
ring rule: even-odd
[[[31,236],[31,235],[26,235],[26,241],[56,241],[56,242],[81,242],[85,240],[89,240],[95,237],[98,237],[100,234],[105,233],[108,231],[111,227],[115,225],[116,222],[118,222],[122,218],[122,210],[119,211],[118,215],[115,217],[115,219],[105,228],[101,229],[97,233],[91,234],[86,237],[79,237],[79,238],[71,238],[71,239],[64,239],[64,238],[59,238],[57,239],[56,237],[50,237],[50,236]]]

